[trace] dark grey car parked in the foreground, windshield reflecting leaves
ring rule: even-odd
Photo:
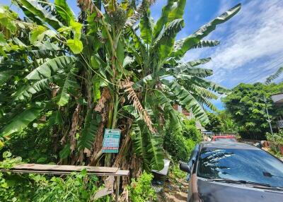
[[[188,173],[189,202],[283,201],[283,162],[253,145],[202,142],[180,170]]]

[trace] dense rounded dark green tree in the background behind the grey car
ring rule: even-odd
[[[270,95],[282,91],[283,83],[241,83],[222,99],[227,112],[239,126],[242,138],[265,139],[265,133],[270,131],[265,108],[267,107],[271,119],[283,114],[282,108],[277,108],[270,98]],[[266,105],[264,97],[267,98]],[[275,126],[275,121],[272,121],[272,125]]]

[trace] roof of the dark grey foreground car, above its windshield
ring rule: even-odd
[[[246,149],[246,150],[260,150],[253,145],[247,145],[244,143],[236,143],[229,141],[207,141],[200,143],[202,148],[233,148],[233,149]]]

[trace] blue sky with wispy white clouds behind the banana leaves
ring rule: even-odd
[[[78,13],[76,0],[67,0]],[[1,0],[1,4],[10,4]],[[166,0],[157,0],[151,16],[157,20]],[[212,57],[203,67],[213,69],[212,81],[233,88],[238,83],[255,83],[283,66],[283,1],[282,0],[187,0],[185,28],[178,39],[190,35],[216,16],[241,3],[241,11],[228,22],[219,25],[207,39],[220,40],[214,48],[187,52],[184,61]],[[220,100],[215,105],[221,107]]]

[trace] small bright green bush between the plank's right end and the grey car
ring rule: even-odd
[[[155,201],[156,193],[151,187],[151,180],[154,178],[152,174],[144,172],[136,179],[132,179],[129,190],[129,198],[132,202]]]

